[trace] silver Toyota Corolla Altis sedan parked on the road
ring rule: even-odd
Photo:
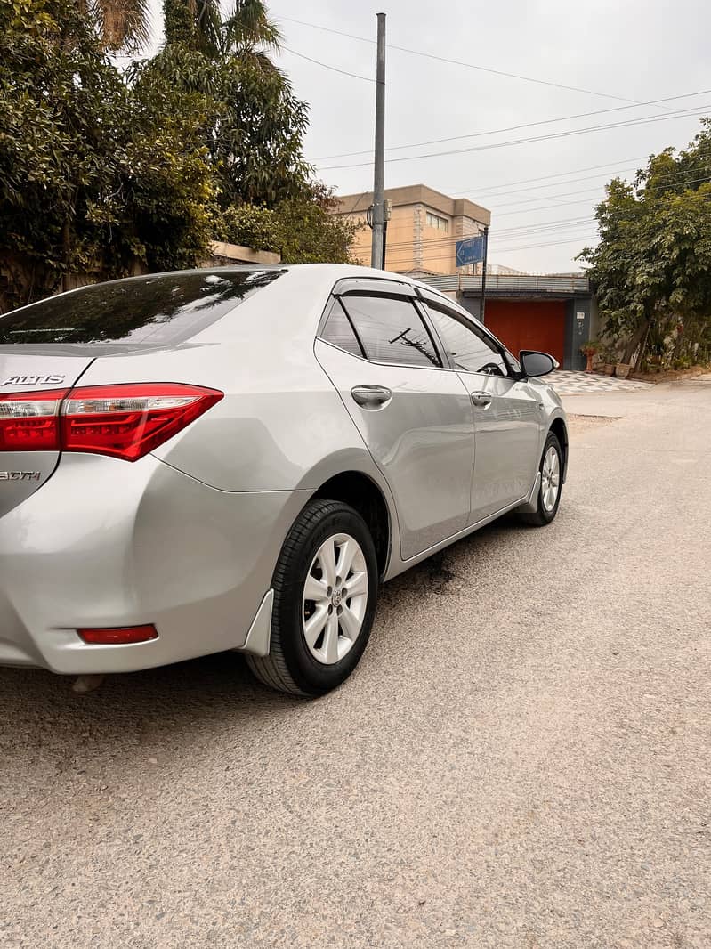
[[[227,649],[317,696],[378,585],[505,512],[556,516],[566,419],[453,300],[336,265],[187,270],[0,318],[0,664]]]

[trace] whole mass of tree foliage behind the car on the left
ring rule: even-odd
[[[123,74],[108,51],[140,42],[145,9],[0,0],[0,311],[74,279],[194,266],[217,237],[348,258],[263,0],[228,17],[164,0],[164,47]]]

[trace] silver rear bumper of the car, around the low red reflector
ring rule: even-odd
[[[0,665],[130,672],[244,647],[308,496],[218,491],[154,456],[64,456],[0,518]],[[144,623],[157,639],[77,633]]]

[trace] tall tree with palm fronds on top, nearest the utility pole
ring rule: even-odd
[[[166,44],[134,79],[162,76],[214,103],[206,144],[221,206],[271,208],[308,195],[312,169],[301,144],[308,109],[268,57],[280,37],[262,0],[239,0],[226,19],[208,0],[164,0],[163,11]]]

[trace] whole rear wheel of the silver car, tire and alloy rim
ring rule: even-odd
[[[265,685],[319,696],[356,668],[373,626],[377,559],[365,521],[340,501],[312,501],[274,571],[269,655],[247,656]]]

